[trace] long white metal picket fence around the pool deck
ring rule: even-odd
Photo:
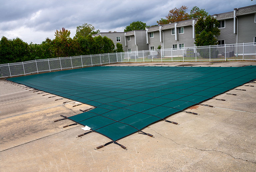
[[[255,61],[256,43],[59,57],[0,64],[0,78],[123,62]]]

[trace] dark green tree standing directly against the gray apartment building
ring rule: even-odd
[[[217,45],[218,39],[216,37],[220,35],[218,26],[219,22],[214,17],[209,15],[205,20],[200,17],[195,25],[196,46]]]

